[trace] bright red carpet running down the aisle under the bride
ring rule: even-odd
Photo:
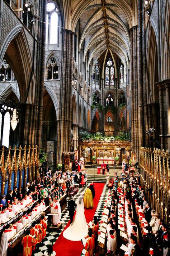
[[[96,208],[98,206],[98,202],[101,196],[101,193],[104,188],[104,183],[95,183],[95,198],[94,198],[94,208],[85,209],[85,217],[87,223],[90,220],[93,220],[93,216],[95,214]],[[69,223],[66,225],[65,229],[70,225]],[[65,230],[64,229],[64,230]],[[53,250],[56,252],[56,256],[80,256],[83,249],[83,245],[81,241],[70,241],[63,237],[63,232],[60,237],[57,239],[56,243],[53,246]]]

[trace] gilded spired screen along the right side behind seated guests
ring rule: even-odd
[[[141,184],[151,207],[169,224],[170,220],[170,153],[164,149],[141,147]]]

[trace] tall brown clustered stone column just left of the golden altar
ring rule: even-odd
[[[73,49],[74,32],[64,29],[62,31],[60,109],[57,126],[57,163],[62,162],[63,152],[70,151]]]

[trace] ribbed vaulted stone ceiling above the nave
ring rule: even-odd
[[[131,0],[72,0],[72,31],[79,24],[79,51],[88,65],[103,53],[117,54],[124,66],[130,59]],[[108,49],[108,50],[107,50]]]

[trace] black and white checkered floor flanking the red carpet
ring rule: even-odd
[[[74,196],[74,200],[76,201],[76,203],[77,203],[78,198],[80,196],[82,196],[82,197],[84,196],[85,188],[79,188],[78,193]],[[106,184],[105,184],[104,188],[103,188],[103,191],[101,193],[101,196],[100,196],[98,206],[97,206],[96,211],[95,211],[95,215],[96,215],[98,221],[100,221],[102,219],[102,212],[103,212],[104,202],[105,202],[105,199],[107,199],[108,194],[109,194],[109,189],[107,189]],[[69,198],[67,198],[67,200],[69,200]],[[66,207],[65,210],[63,210],[62,217],[61,217],[62,229],[58,232],[51,232],[51,233],[48,233],[48,231],[47,231],[47,235],[46,235],[46,238],[44,239],[44,242],[43,242],[42,246],[40,245],[39,247],[36,247],[36,250],[34,251],[34,253],[32,255],[34,255],[34,256],[43,256],[44,251],[47,250],[46,245],[49,242],[52,242],[53,244],[56,242],[56,240],[58,239],[58,237],[62,233],[63,229],[65,228],[65,226],[67,225],[69,220],[70,220],[69,212],[67,211],[67,207]],[[83,249],[82,252],[81,252],[81,256],[84,256],[84,255],[85,255],[85,249]],[[80,256],[80,255],[74,255],[74,256]]]

